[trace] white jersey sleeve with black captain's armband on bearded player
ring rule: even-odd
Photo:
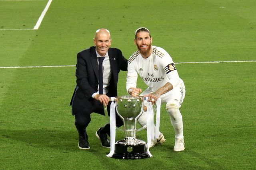
[[[164,57],[161,60],[161,64],[169,79],[168,82],[170,82],[174,88],[180,83],[180,77],[178,75],[178,71],[176,70],[174,62],[172,61],[172,57],[170,57],[170,55],[166,51],[164,52],[165,53]]]

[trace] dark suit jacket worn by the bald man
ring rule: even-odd
[[[77,54],[76,64],[76,88],[72,96],[70,105],[73,102],[79,102],[80,104],[75,106],[83,107],[88,104],[88,101],[95,100],[92,98],[92,94],[98,91],[98,61],[95,51],[96,47],[90,47]],[[120,70],[127,71],[127,59],[124,58],[122,52],[116,48],[108,49],[108,56],[110,60],[110,67],[112,70],[110,85],[108,86],[108,96],[117,96],[117,82],[118,73]],[[72,107],[72,114],[80,108]]]

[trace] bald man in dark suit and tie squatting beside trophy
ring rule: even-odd
[[[94,45],[77,54],[76,88],[70,102],[78,130],[79,149],[90,149],[86,133],[86,127],[91,120],[90,114],[94,112],[104,115],[104,104],[110,115],[108,102],[109,97],[117,96],[118,73],[120,70],[127,71],[127,60],[122,52],[119,49],[110,48],[111,38],[107,29],[96,31]],[[103,75],[101,69],[103,69]],[[100,80],[103,82],[100,83]],[[116,126],[121,125],[122,121],[116,115]],[[103,147],[109,148],[107,134],[110,136],[109,123],[98,129],[96,137],[100,139]]]

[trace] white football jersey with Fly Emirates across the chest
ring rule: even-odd
[[[170,55],[160,47],[152,46],[152,48],[152,54],[147,59],[144,59],[139,51],[136,51],[129,58],[126,90],[136,87],[138,74],[154,91],[167,82],[170,82],[173,88],[183,82]]]

